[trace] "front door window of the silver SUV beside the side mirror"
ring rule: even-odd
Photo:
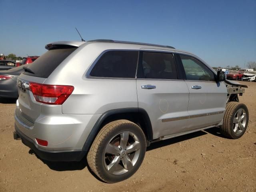
[[[214,73],[196,58],[180,55],[187,80],[214,81]]]

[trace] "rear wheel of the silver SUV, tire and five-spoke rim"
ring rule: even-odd
[[[129,138],[128,142],[121,143],[121,138],[124,138],[124,135],[127,135],[127,133]],[[129,148],[136,140],[139,141],[139,143],[136,143],[136,149],[132,147],[134,152],[128,154],[129,149],[126,150],[125,147],[124,150],[120,147],[127,146],[127,148]],[[126,144],[124,145],[124,143]],[[113,153],[107,152],[108,146],[111,146],[110,149],[114,150]],[[112,148],[113,146],[114,148]],[[120,150],[120,154],[116,154],[117,150]],[[98,178],[107,183],[115,183],[126,180],[132,176],[142,164],[145,153],[146,138],[141,128],[128,120],[116,120],[106,124],[100,130],[88,152],[87,161],[90,169]],[[113,163],[112,168],[111,163],[114,162],[115,159],[119,161],[118,163]],[[134,160],[136,160],[136,162]],[[107,164],[108,162],[109,164]],[[127,162],[127,164],[124,164],[124,162]],[[129,164],[130,162],[132,162],[132,164]],[[108,170],[109,166],[110,169]]]

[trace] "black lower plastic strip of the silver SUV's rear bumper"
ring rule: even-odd
[[[43,150],[38,147],[38,144],[24,135],[18,130],[15,124],[15,130],[20,136],[22,143],[32,149],[41,159],[48,161],[80,161],[86,155],[85,150]]]

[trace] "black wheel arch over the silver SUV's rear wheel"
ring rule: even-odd
[[[109,110],[107,112],[104,112],[100,116],[100,118],[98,118],[90,134],[88,135],[82,150],[87,152],[90,149],[92,142],[94,141],[98,132],[101,130],[101,128],[104,125],[119,119],[130,120],[138,124],[138,126],[142,128],[146,136],[147,142],[149,143],[151,140],[153,140],[152,125],[146,110],[142,108],[121,108],[121,109],[114,109],[114,110]]]

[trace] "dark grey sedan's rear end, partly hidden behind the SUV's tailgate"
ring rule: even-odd
[[[24,71],[23,66],[0,71],[0,97],[18,98],[17,78]]]

